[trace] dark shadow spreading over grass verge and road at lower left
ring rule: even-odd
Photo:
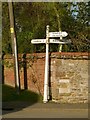
[[[42,96],[28,90],[21,90],[19,94],[15,88],[2,85],[2,114],[22,110],[37,102],[42,101]]]

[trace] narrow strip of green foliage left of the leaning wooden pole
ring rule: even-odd
[[[2,4],[2,51],[11,53],[8,4]]]

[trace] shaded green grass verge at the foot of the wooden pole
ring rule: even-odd
[[[21,90],[20,93],[17,94],[15,88],[2,85],[2,101],[28,101],[34,103],[41,102],[42,96],[29,90]]]

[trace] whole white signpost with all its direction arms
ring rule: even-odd
[[[63,37],[66,37],[68,35],[67,32],[49,32],[49,25],[47,25],[46,28],[46,39],[32,39],[32,44],[46,44],[46,58],[45,58],[45,78],[44,78],[44,97],[43,102],[47,103],[49,99],[49,43],[57,43],[57,44],[67,44],[70,43],[70,41],[60,41],[58,39],[49,39],[54,37],[59,37],[62,39]],[[62,39],[63,40],[63,39]]]

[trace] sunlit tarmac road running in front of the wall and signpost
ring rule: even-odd
[[[73,107],[74,106],[74,107]],[[78,106],[78,105],[77,105]],[[79,105],[80,106],[80,105]],[[84,105],[85,106],[85,105]],[[3,118],[88,118],[87,107],[76,105],[36,103],[20,109],[15,107],[8,112],[3,110]]]

